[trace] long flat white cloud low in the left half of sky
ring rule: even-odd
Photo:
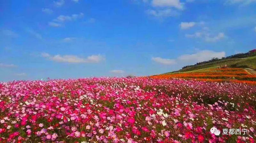
[[[99,63],[105,60],[101,55],[92,55],[86,58],[78,57],[76,55],[55,55],[51,56],[48,53],[42,53],[41,56],[48,58],[55,62],[63,62],[63,63]]]

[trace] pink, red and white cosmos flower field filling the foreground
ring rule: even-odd
[[[254,143],[255,108],[256,86],[244,83],[13,81],[0,83],[0,142]],[[215,136],[212,127],[247,132]]]

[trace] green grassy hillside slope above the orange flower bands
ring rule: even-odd
[[[236,64],[237,66],[247,65],[248,67],[250,67],[252,69],[256,69],[256,56],[251,56],[251,57],[247,57],[247,58],[239,58],[239,59],[228,59],[228,60],[223,60],[223,61],[218,61],[218,62],[201,64],[201,65],[196,65],[194,67],[181,69],[181,70],[175,71],[175,72],[168,72],[168,73],[164,73],[164,74],[171,74],[171,73],[177,73],[177,72],[202,72],[202,71],[210,69],[210,68],[220,67],[220,65],[224,65],[224,64],[227,64],[228,67],[230,67],[230,65],[232,65],[232,64]]]

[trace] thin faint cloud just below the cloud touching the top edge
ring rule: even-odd
[[[172,9],[165,9],[165,10],[147,10],[146,13],[148,15],[152,15],[154,17],[163,18],[163,17],[172,17],[177,16],[179,13]]]

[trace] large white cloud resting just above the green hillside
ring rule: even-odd
[[[178,60],[180,61],[188,61],[188,62],[203,62],[203,61],[206,61],[206,60],[210,60],[212,59],[213,57],[218,57],[218,58],[222,58],[222,57],[225,57],[226,53],[223,51],[223,52],[214,52],[214,51],[211,51],[211,50],[202,50],[202,51],[199,51],[195,54],[185,54],[185,55],[181,55],[178,57]]]

